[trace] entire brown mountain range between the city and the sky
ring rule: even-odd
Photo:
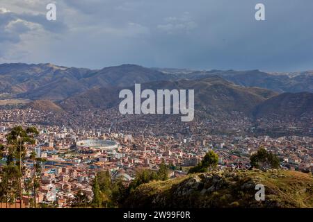
[[[266,73],[191,69],[158,69],[120,65],[104,69],[52,64],[0,65],[1,99],[29,99],[38,110],[114,108],[121,89],[195,89],[195,110],[205,117],[240,112],[249,117],[312,114],[313,71]]]

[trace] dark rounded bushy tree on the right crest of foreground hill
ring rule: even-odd
[[[257,153],[254,153],[250,157],[251,168],[273,168],[277,169],[280,167],[279,158],[271,153],[266,151],[264,147],[260,147]]]

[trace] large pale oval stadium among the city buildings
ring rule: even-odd
[[[113,150],[118,148],[118,144],[112,140],[86,139],[76,143],[77,148],[97,148],[101,150]]]

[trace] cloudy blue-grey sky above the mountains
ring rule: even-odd
[[[0,63],[313,70],[312,10],[312,0],[0,0]]]

